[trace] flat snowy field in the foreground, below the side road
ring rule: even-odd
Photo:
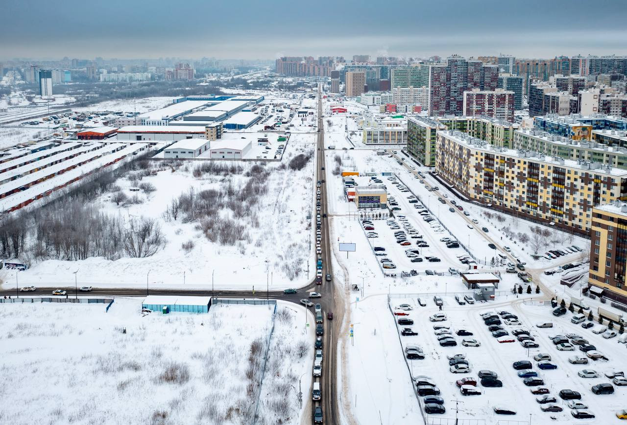
[[[259,397],[257,423],[298,424],[299,377],[310,394],[314,331],[292,304],[169,315],[142,314],[139,298],[116,298],[108,313],[0,306],[2,423],[251,423]]]

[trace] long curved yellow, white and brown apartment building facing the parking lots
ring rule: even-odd
[[[505,149],[455,130],[437,133],[435,166],[469,199],[584,234],[594,206],[627,199],[627,170]]]

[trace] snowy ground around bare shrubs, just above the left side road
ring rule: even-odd
[[[268,280],[270,289],[274,290],[302,286],[315,271],[311,235],[307,230],[311,223],[307,214],[312,214],[314,199],[314,161],[309,159],[300,171],[293,171],[288,164],[295,155],[312,155],[314,140],[314,135],[293,134],[283,161],[262,164],[261,169],[252,168],[260,167],[255,162],[228,162],[227,166],[238,164],[243,169],[236,173],[194,177],[194,167],[202,164],[194,161],[177,171],[166,167],[139,182],[121,178],[115,184],[129,198],[139,197],[140,203],[123,202],[124,206],[117,206],[112,202],[114,194],[110,192],[101,196],[95,206],[126,220],[140,216],[156,219],[167,239],[166,247],[147,258],[42,261],[20,271],[19,284],[70,285],[74,281],[74,271],[78,270],[79,283],[99,287],[144,286],[148,280],[152,288],[209,288],[212,275],[215,288],[265,290]],[[152,164],[159,167],[162,163]],[[189,191],[232,191],[230,196],[234,197],[250,181],[251,170],[253,173],[268,170],[268,177],[261,182],[268,190],[258,196],[258,202],[254,204],[250,200],[240,202],[237,211],[225,201],[219,216],[245,226],[243,239],[233,246],[208,240],[203,234],[203,220],[186,222],[182,212],[177,219],[166,218],[166,209],[171,206],[172,199]],[[131,172],[129,176],[138,173]],[[130,188],[138,183],[152,184],[156,191],[149,194],[131,192]],[[183,249],[182,244],[189,241],[192,248]],[[16,271],[2,272],[4,287],[14,285]]]

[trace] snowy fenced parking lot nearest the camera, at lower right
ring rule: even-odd
[[[425,396],[426,394],[436,396],[435,399],[426,399],[426,401],[442,402],[445,407],[445,412],[441,414],[436,413],[439,410],[436,407],[427,407],[429,411],[433,412],[432,414],[455,417],[455,411],[453,411],[455,406],[451,401],[460,400],[463,402],[460,404],[463,407],[463,414],[460,413],[460,417],[485,419],[487,423],[496,423],[500,419],[525,422],[531,419],[532,423],[547,423],[549,421],[564,423],[572,423],[573,421],[576,423],[618,422],[614,412],[626,407],[627,389],[615,384],[608,375],[613,375],[610,373],[613,369],[620,372],[625,371],[623,360],[625,347],[623,344],[618,344],[616,338],[605,339],[601,335],[591,332],[591,329],[600,327],[598,323],[591,329],[584,329],[581,325],[570,322],[572,313],[554,317],[551,314],[553,309],[550,306],[525,305],[520,299],[460,306],[457,305],[453,296],[442,296],[441,298],[443,298],[443,310],[441,311],[431,297],[429,299],[421,298],[421,302],[426,304],[424,307],[418,304],[416,298],[391,298],[389,301],[393,320],[397,325],[401,340],[401,346],[398,347],[399,355],[408,356],[406,353],[408,345],[416,345],[419,350],[408,350],[408,352],[422,353],[422,355],[409,355],[409,357],[421,357],[420,359],[407,360],[410,373],[413,376],[414,388],[419,388],[421,394],[425,394]],[[498,338],[493,335],[492,331],[488,330],[488,325],[484,323],[482,313],[492,313],[496,317],[492,320],[495,323],[497,320],[500,322],[496,326],[501,327],[502,331],[507,334],[503,332],[495,334],[502,335]],[[445,315],[445,320],[431,321],[430,317],[433,315]],[[511,318],[512,316],[517,317],[517,319]],[[510,317],[507,319],[508,321],[517,320],[519,324],[514,322],[514,324],[508,325],[503,317]],[[413,320],[413,324],[398,324],[399,320],[403,323],[403,320],[406,319]],[[438,320],[436,317],[433,319]],[[551,322],[552,327],[539,328],[536,326],[546,322]],[[441,327],[441,329],[436,330],[434,327]],[[418,335],[403,335],[405,328],[411,329]],[[446,337],[448,332],[450,332],[450,338]],[[498,331],[494,330],[494,332]],[[436,333],[441,335],[436,335]],[[466,335],[458,335],[458,333]],[[472,333],[472,335],[467,335],[467,333]],[[557,348],[558,345],[549,338],[549,336],[556,335],[564,335],[569,342],[576,343],[581,343],[581,340],[574,338],[585,338],[608,360],[589,359],[585,352],[577,349],[578,345],[574,346],[574,351],[561,351]],[[443,338],[443,341],[453,340],[456,345],[441,346],[438,338]],[[529,344],[530,347],[525,348],[522,342],[519,342],[519,338],[529,340],[530,342],[525,344]],[[461,344],[463,340],[476,340],[479,346],[473,346],[475,345],[473,342],[464,346]],[[537,343],[539,347],[534,347],[534,343]],[[452,343],[445,342],[444,344]],[[453,362],[458,362],[458,366],[451,366],[451,360],[448,357],[455,357],[455,355],[460,355],[458,356],[459,359],[453,360]],[[535,356],[538,356],[536,357],[537,360],[534,359]],[[587,364],[572,364],[569,362],[569,357],[572,356],[586,359]],[[542,362],[543,359],[547,359],[548,362]],[[514,362],[520,361],[530,362],[530,369],[527,369],[529,365],[526,364],[519,367],[518,370],[515,369]],[[464,369],[465,362],[468,363],[467,371]],[[542,363],[539,364],[539,362]],[[556,369],[548,369],[554,366]],[[452,373],[451,367],[459,369],[460,373]],[[599,377],[581,377],[578,372],[584,369],[598,372]],[[479,374],[487,376],[490,374],[489,372],[495,374],[502,387],[490,387],[491,384],[499,384],[495,380],[487,380],[484,381],[485,385],[482,384]],[[519,376],[519,372],[522,376]],[[527,383],[530,386],[525,384],[525,377],[528,378]],[[463,378],[471,378],[467,380],[470,382],[470,387],[461,387],[463,391],[480,392],[481,394],[463,395],[462,389],[456,383],[456,380]],[[541,382],[534,382],[534,378],[540,379]],[[623,382],[623,380],[617,379],[616,382]],[[416,383],[424,384],[426,387],[418,387]],[[536,385],[538,383],[540,385]],[[597,395],[591,391],[591,387],[607,383],[612,384],[614,394]],[[430,389],[432,384],[437,387],[437,391]],[[596,418],[575,419],[571,413],[575,409],[569,407],[569,400],[564,400],[560,396],[562,390],[579,392],[581,399],[574,402],[579,402],[583,406],[574,407],[591,412]],[[533,394],[532,391],[544,392],[547,397],[545,402],[540,403],[536,400],[539,397],[544,397],[545,394]],[[419,396],[418,399],[420,399],[421,409],[424,411],[423,397]],[[441,399],[437,397],[441,397]],[[555,398],[555,401],[552,401],[552,397]],[[503,412],[515,411],[515,414],[507,416],[495,414],[495,407],[502,409]],[[542,408],[549,409],[549,411],[544,412]],[[582,412],[579,414],[584,416]]]

